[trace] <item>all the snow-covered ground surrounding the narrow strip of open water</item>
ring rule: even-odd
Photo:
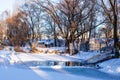
[[[120,59],[99,64],[100,70],[83,66],[43,66],[31,67],[34,61],[77,61],[88,59],[97,52],[80,52],[77,55],[31,54],[0,51],[0,80],[120,80]],[[32,65],[32,64],[31,64]],[[113,72],[112,74],[111,71]]]

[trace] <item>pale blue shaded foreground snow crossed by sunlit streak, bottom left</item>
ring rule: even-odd
[[[72,71],[72,70],[70,70]],[[1,80],[100,80],[99,78],[86,77],[69,73],[67,70],[55,69],[17,69],[14,67],[0,68]]]

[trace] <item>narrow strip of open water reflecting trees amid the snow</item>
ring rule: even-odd
[[[73,67],[73,66],[81,66],[80,62],[75,61],[27,61],[27,62],[17,62],[14,65],[18,65],[18,67],[22,66],[22,68],[40,68],[40,67]]]

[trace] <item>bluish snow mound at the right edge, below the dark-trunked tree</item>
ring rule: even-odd
[[[103,72],[118,74],[120,76],[120,59],[111,59],[99,64]]]

